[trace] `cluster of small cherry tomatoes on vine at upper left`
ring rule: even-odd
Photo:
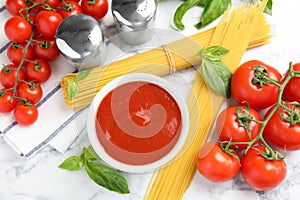
[[[12,15],[4,25],[12,42],[7,49],[11,63],[0,71],[0,113],[13,111],[17,123],[30,125],[38,118],[41,83],[51,76],[49,62],[60,55],[55,42],[59,24],[81,13],[100,20],[108,11],[108,1],[6,0],[6,9]]]

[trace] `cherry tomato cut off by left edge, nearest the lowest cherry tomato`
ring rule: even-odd
[[[7,113],[12,111],[17,103],[17,98],[14,98],[12,90],[0,90],[0,113]]]

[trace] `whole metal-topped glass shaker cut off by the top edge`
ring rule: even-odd
[[[156,0],[112,0],[111,10],[121,39],[138,45],[151,39]]]

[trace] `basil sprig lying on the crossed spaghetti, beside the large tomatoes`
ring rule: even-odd
[[[225,98],[230,98],[231,96],[230,81],[232,72],[221,59],[228,52],[228,49],[221,46],[202,48],[198,52],[198,56],[200,56],[202,61],[200,70],[206,83]]]

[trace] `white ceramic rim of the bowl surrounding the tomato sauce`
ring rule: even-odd
[[[149,83],[153,83],[155,85],[160,86],[164,90],[166,90],[177,102],[179,110],[181,112],[181,132],[179,133],[179,138],[173,148],[161,159],[154,161],[145,165],[130,165],[123,162],[120,162],[114,158],[112,158],[103,148],[100,143],[97,132],[96,132],[96,115],[98,111],[98,106],[100,105],[102,99],[117,86],[132,82],[132,81],[145,81]],[[163,78],[159,76],[155,76],[147,73],[131,73],[120,76],[108,84],[106,84],[94,97],[88,112],[88,120],[87,120],[87,132],[89,141],[94,148],[95,152],[99,155],[99,157],[108,165],[124,171],[131,173],[145,173],[152,172],[155,169],[161,168],[168,164],[172,159],[175,158],[176,155],[182,149],[189,130],[189,112],[186,105],[185,100],[182,95],[172,86],[170,82],[167,82]]]

